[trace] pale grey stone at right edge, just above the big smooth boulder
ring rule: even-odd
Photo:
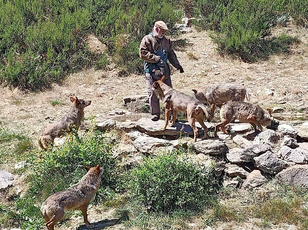
[[[306,164],[308,161],[308,151],[302,148],[291,149],[284,145],[278,152],[285,161],[292,161],[296,164]]]

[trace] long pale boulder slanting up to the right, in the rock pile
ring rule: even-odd
[[[265,153],[270,150],[270,145],[251,145],[245,149],[240,149],[237,152],[229,151],[227,153],[227,159],[235,164],[241,164],[244,162],[250,162],[254,157],[260,156],[262,153]]]

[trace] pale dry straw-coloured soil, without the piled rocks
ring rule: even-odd
[[[221,57],[215,51],[207,32],[197,32],[180,35],[187,44],[175,47],[178,59],[185,73],[180,74],[172,68],[172,84],[175,89],[193,95],[191,89],[202,85],[236,82],[244,85],[250,94],[259,100],[262,107],[280,106],[284,113],[298,114],[307,112],[308,108],[308,29],[276,28],[276,33],[285,32],[298,36],[300,43],[290,48],[290,54],[274,55],[266,61],[249,64],[240,60]],[[53,85],[53,88],[39,93],[22,93],[19,89],[2,87],[0,96],[0,124],[3,127],[25,129],[33,138],[50,123],[55,122],[65,114],[71,102],[70,96],[92,100],[85,108],[85,117],[105,113],[115,108],[123,108],[123,97],[134,94],[145,94],[144,76],[131,74],[119,77],[120,69],[110,66],[108,71],[86,70],[71,74],[63,85]],[[265,89],[274,91],[273,96],[265,94]],[[62,105],[51,105],[57,100]],[[300,114],[300,113],[299,113]],[[97,222],[104,219],[115,219],[112,210],[100,212],[94,207],[89,210],[89,220]],[[116,221],[116,220],[113,220]],[[60,229],[76,229],[83,220],[81,213],[72,216],[69,224],[60,225]],[[108,221],[107,221],[108,222]],[[197,222],[197,220],[196,220]],[[104,224],[105,222],[102,222]],[[113,223],[113,222],[112,222]],[[209,229],[261,229],[247,223],[222,223]],[[185,229],[204,229],[198,224],[187,223]],[[103,226],[102,226],[103,228]],[[123,224],[115,224],[104,229],[122,229]],[[135,229],[135,228],[134,228]],[[291,229],[289,225],[272,226],[271,229]]]

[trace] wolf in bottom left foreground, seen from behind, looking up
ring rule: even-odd
[[[64,210],[76,209],[82,211],[86,226],[94,227],[88,221],[87,206],[99,188],[104,168],[99,165],[92,168],[87,165],[85,167],[87,173],[77,184],[49,196],[41,205],[41,215],[48,230],[54,230],[55,224],[64,217]]]

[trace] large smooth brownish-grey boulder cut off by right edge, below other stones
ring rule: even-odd
[[[308,187],[308,165],[294,165],[276,175],[280,183]]]

